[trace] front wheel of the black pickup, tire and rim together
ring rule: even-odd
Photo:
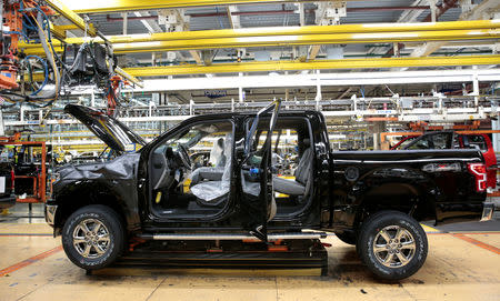
[[[94,232],[98,228],[99,233],[84,234],[83,228],[87,232]],[[80,235],[86,241],[73,243]],[[71,262],[86,270],[98,270],[110,265],[122,253],[123,245],[124,230],[121,219],[117,212],[106,205],[93,204],[80,208],[68,218],[62,228],[62,248],[66,254]],[[86,257],[87,249],[89,251]]]

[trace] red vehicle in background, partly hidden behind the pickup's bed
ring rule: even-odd
[[[497,155],[491,139],[486,133],[458,133],[456,131],[427,132],[407,136],[391,150],[471,149],[481,150],[487,169],[487,188],[497,187]]]

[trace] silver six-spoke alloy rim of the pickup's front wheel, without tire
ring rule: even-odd
[[[80,255],[90,259],[102,257],[110,244],[109,231],[96,219],[82,220],[73,231],[73,247]]]

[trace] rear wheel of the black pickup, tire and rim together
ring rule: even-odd
[[[426,261],[428,253],[426,232],[408,214],[389,210],[377,212],[363,222],[359,233],[357,250],[361,261],[383,280],[408,278]],[[397,233],[401,233],[399,240]],[[389,238],[390,242],[384,237]]]

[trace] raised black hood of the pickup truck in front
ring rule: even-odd
[[[146,144],[140,136],[101,111],[78,104],[67,104],[64,112],[78,119],[112,150],[126,151],[136,149],[134,144]]]

